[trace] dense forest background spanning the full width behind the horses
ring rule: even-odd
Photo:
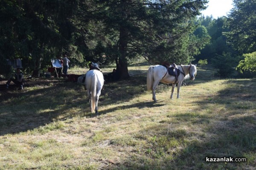
[[[214,19],[201,16],[207,0],[1,0],[0,74],[12,70],[6,59],[19,58],[38,77],[67,54],[71,67],[115,63],[121,79],[140,57],[256,77],[256,0],[233,5]]]

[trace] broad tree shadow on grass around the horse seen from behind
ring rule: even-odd
[[[73,82],[54,82],[35,86],[27,91],[11,91],[1,95],[0,100],[0,135],[20,133],[45,126],[58,120],[73,116],[90,116],[87,91],[82,85]],[[104,85],[99,97],[98,107],[120,104],[145,93],[145,77],[134,76]],[[149,107],[150,103],[138,103],[122,108]],[[155,107],[157,107],[156,105]],[[99,112],[106,114],[118,107]]]

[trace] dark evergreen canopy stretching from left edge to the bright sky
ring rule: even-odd
[[[2,0],[0,62],[21,58],[38,74],[63,53],[75,61],[186,63],[204,46],[192,20],[207,0]],[[103,57],[104,56],[104,57]]]

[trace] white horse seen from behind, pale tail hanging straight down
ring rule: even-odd
[[[96,63],[93,63],[93,67],[99,68]],[[85,76],[85,87],[90,99],[90,107],[92,113],[94,111],[98,113],[98,101],[103,84],[104,77],[101,71],[97,69],[87,71]]]

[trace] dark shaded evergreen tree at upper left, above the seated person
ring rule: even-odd
[[[23,67],[39,75],[50,59],[76,51],[72,17],[76,0],[0,1],[0,62],[21,58]]]

